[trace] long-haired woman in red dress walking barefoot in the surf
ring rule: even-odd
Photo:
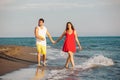
[[[64,36],[66,38],[65,38],[62,50],[64,52],[68,53],[68,58],[66,60],[65,67],[68,68],[69,63],[71,62],[72,68],[74,68],[75,64],[74,64],[73,55],[76,52],[76,42],[77,42],[80,50],[82,50],[82,47],[81,47],[80,42],[78,40],[76,30],[74,29],[74,26],[72,25],[71,22],[67,22],[67,24],[66,24],[66,30],[58,38],[58,40],[56,41],[56,43],[59,42]]]

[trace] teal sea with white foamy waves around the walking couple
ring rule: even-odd
[[[56,39],[57,37],[54,37],[54,40]],[[54,69],[65,64],[67,53],[61,52],[64,39],[53,45],[47,38],[47,65],[52,66],[50,70],[38,69],[36,64],[0,78],[2,80],[120,80],[120,37],[79,37],[79,40],[83,50],[77,49],[74,55],[76,64],[74,70]],[[0,45],[35,47],[35,38],[0,38]]]

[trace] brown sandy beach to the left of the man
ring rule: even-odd
[[[6,45],[0,46],[0,75],[37,63],[36,48]]]

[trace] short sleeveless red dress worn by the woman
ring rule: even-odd
[[[72,32],[72,34],[69,34],[67,31],[66,31],[66,38],[65,38],[65,41],[64,41],[64,45],[63,45],[63,51],[64,52],[68,52],[68,51],[71,51],[71,52],[76,52],[76,42],[75,42],[75,34],[74,34],[74,31]]]

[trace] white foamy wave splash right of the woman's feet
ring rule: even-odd
[[[77,67],[81,67],[82,69],[88,69],[88,68],[93,68],[97,66],[112,66],[112,65],[114,65],[114,62],[112,59],[107,58],[103,55],[96,55],[91,57],[82,65]]]

